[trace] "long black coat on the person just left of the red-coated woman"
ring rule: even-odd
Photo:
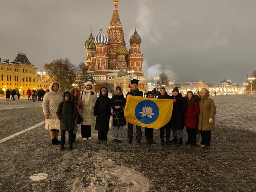
[[[172,118],[170,120],[170,126],[171,129],[182,130],[184,129],[184,113],[187,109],[187,102],[181,93],[178,93],[177,96],[171,96],[171,99],[174,98],[176,102],[173,103],[173,112]]]

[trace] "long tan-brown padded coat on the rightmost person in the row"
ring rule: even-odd
[[[216,106],[214,101],[209,97],[210,92],[207,90],[205,97],[200,97],[198,101],[200,108],[200,113],[198,114],[198,129],[202,131],[215,130]],[[212,123],[209,123],[210,118],[213,119]]]

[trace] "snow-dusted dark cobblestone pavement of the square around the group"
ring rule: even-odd
[[[112,142],[112,130],[99,142],[92,127],[91,141],[79,132],[74,150],[59,151],[45,125],[36,126],[0,143],[0,191],[256,191],[256,94],[211,98],[217,114],[208,148],[161,146],[159,130],[148,146],[144,128],[143,143],[129,145],[126,126],[123,143]],[[0,140],[44,121],[41,105],[1,99]],[[39,173],[48,177],[30,179]]]

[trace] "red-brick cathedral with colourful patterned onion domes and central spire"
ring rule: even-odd
[[[105,35],[100,26],[100,32],[84,42],[86,58],[84,65],[88,67],[87,74],[95,80],[95,90],[107,87],[110,90],[116,86],[122,92],[129,92],[129,81],[138,79],[138,89],[147,91],[147,83],[142,72],[143,54],[140,52],[141,37],[135,31],[130,38],[130,50],[127,51],[123,35],[123,27],[118,15],[118,2],[113,0],[114,10]]]

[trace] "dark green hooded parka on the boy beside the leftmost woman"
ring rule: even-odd
[[[69,94],[68,101],[65,100],[65,94]],[[59,104],[57,110],[57,116],[60,120],[60,130],[74,130],[75,119],[78,115],[78,110],[76,103],[71,101],[71,93],[69,91],[65,91],[63,95],[63,101]]]

